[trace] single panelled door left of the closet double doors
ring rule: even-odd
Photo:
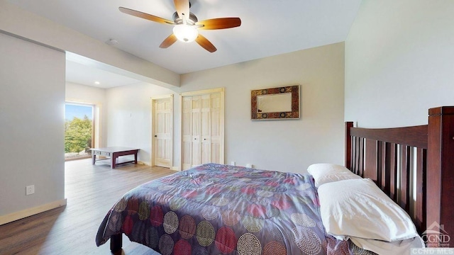
[[[154,163],[172,166],[173,97],[153,100]]]

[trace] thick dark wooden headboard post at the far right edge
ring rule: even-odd
[[[428,111],[427,215],[423,239],[428,246],[454,247],[454,107]]]

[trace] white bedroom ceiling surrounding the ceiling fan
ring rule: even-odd
[[[175,42],[159,47],[172,26],[118,11],[119,6],[172,20],[173,0],[9,0],[28,11],[106,42],[118,41],[129,52],[178,74],[255,60],[310,47],[342,42],[348,35],[361,0],[191,0],[199,21],[239,17],[241,26],[200,30],[217,51],[210,53],[196,42]],[[68,68],[76,64],[68,64]],[[70,71],[82,76],[85,72]],[[82,78],[81,78],[82,79]],[[89,79],[89,78],[87,78]],[[82,83],[86,81],[79,81]],[[89,81],[92,85],[94,81]],[[126,82],[128,83],[128,82]],[[118,86],[118,85],[116,85]]]

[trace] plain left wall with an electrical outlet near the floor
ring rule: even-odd
[[[2,224],[13,212],[65,203],[65,53],[3,33],[0,45]]]

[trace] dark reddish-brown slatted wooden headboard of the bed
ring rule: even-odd
[[[429,109],[428,125],[346,122],[345,166],[409,212],[428,246],[454,247],[454,106]]]

